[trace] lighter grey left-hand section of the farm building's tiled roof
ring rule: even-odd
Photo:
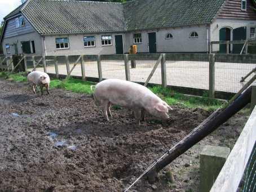
[[[121,3],[29,0],[21,12],[40,34],[125,30]]]

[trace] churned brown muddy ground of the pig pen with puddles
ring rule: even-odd
[[[173,122],[148,118],[139,127],[130,111],[112,113],[106,122],[89,95],[33,95],[24,83],[0,80],[0,191],[123,191],[209,115],[174,106]],[[155,184],[140,180],[131,191],[198,191],[202,148],[232,148],[247,118],[236,115],[171,163],[174,184],[165,169]]]

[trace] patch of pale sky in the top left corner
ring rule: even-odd
[[[21,5],[20,0],[0,0],[0,21],[19,5]]]

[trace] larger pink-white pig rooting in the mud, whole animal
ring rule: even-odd
[[[140,118],[145,118],[145,111],[160,119],[169,119],[168,110],[171,107],[162,101],[147,87],[120,79],[107,79],[95,86],[95,104],[103,108],[105,118],[109,120],[111,105],[119,105],[134,111],[135,119],[140,124]]]

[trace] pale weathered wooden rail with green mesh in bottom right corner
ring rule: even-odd
[[[256,95],[254,95],[256,97]],[[256,107],[210,192],[256,190]]]

